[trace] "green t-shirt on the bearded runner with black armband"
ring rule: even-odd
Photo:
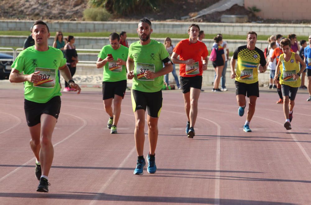
[[[134,75],[132,89],[154,93],[161,90],[163,76],[155,79],[146,79],[143,74],[146,70],[158,72],[163,68],[165,58],[169,57],[164,45],[151,39],[148,45],[141,45],[140,41],[132,43],[128,50],[128,56],[134,59]]]

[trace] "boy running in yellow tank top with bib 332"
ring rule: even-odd
[[[280,84],[284,101],[284,127],[286,130],[290,130],[290,122],[293,118],[293,109],[295,106],[295,97],[298,91],[298,87],[301,83],[300,74],[306,68],[306,64],[298,54],[290,51],[289,39],[283,39],[280,42],[280,46],[282,48],[283,54],[280,55],[279,62],[277,63],[274,80],[278,79],[277,74],[281,70]],[[302,65],[301,69],[299,68],[299,63]]]

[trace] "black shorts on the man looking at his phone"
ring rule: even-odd
[[[103,100],[114,98],[114,95],[124,98],[126,90],[126,80],[117,82],[103,82]]]

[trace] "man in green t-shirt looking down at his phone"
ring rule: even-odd
[[[117,134],[117,124],[121,113],[121,102],[126,90],[126,60],[128,48],[119,43],[117,33],[109,35],[110,45],[105,45],[98,54],[97,68],[104,66],[103,101],[109,115],[107,127],[111,134]],[[112,110],[112,100],[114,109]]]

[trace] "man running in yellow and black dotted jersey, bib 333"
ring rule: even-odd
[[[251,121],[256,106],[256,100],[259,97],[258,86],[258,69],[260,73],[267,70],[266,59],[262,50],[255,47],[257,41],[257,33],[249,31],[247,33],[247,45],[238,47],[231,58],[231,79],[235,78],[235,94],[238,102],[239,116],[244,115],[246,107],[245,96],[249,98],[249,107],[244,124],[244,132],[251,132],[249,129],[249,122]],[[236,72],[235,61],[238,60]],[[258,67],[259,65],[259,67]]]

